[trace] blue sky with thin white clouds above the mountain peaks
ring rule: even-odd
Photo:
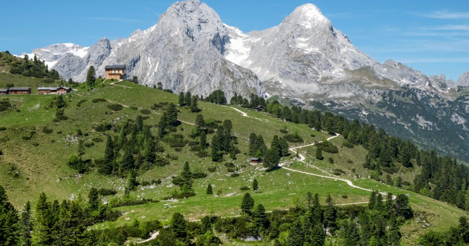
[[[278,25],[304,3],[378,62],[392,59],[427,75],[457,80],[469,71],[469,4],[465,0],[202,0],[242,31]],[[94,44],[156,24],[167,0],[2,0],[0,50],[31,52],[53,43]]]

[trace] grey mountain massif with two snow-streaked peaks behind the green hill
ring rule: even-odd
[[[160,81],[176,92],[206,96],[221,89],[228,98],[234,92],[245,97],[267,92],[375,123],[469,160],[467,98],[451,97],[441,76],[427,77],[391,60],[374,61],[313,4],[296,8],[278,26],[243,33],[224,24],[205,3],[176,2],[150,29],[101,39],[87,51],[83,57],[65,53],[53,68],[64,78],[82,81],[90,65],[104,74],[106,64],[124,63],[140,83]],[[429,132],[451,132],[453,140],[441,146]]]

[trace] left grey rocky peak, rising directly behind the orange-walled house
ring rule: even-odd
[[[148,86],[162,82],[165,89],[203,96],[220,89],[228,99],[235,92],[244,97],[265,96],[251,70],[223,57],[229,39],[213,9],[188,0],[171,5],[150,29],[114,41],[101,39],[85,56],[65,54],[53,68],[66,79],[84,81],[91,65],[99,76],[104,75],[106,65],[123,63],[128,77],[138,76]]]

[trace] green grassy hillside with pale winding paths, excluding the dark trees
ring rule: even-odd
[[[32,86],[38,82],[27,78],[16,83]],[[106,135],[116,136],[120,125],[127,119],[135,120],[137,115],[142,115],[145,117],[145,124],[155,126],[161,118],[162,110],[150,110],[152,106],[160,102],[178,102],[176,94],[130,82],[115,85],[99,84],[95,90],[89,90],[82,85],[78,88],[78,92],[64,96],[67,104],[64,108],[64,115],[68,117],[68,120],[56,123],[54,119],[57,110],[50,107],[55,97],[54,95],[34,94],[0,97],[0,100],[6,100],[13,105],[11,109],[0,112],[0,126],[4,127],[0,131],[0,150],[3,152],[3,155],[0,155],[0,184],[5,187],[10,202],[17,208],[22,207],[27,201],[32,201],[34,206],[40,192],[45,192],[49,198],[60,201],[78,196],[85,197],[91,187],[115,187],[118,191],[117,195],[106,196],[104,200],[110,201],[114,197],[122,197],[126,179],[101,175],[96,170],[78,174],[67,165],[68,157],[77,153],[78,139],[84,140],[89,146],[85,148],[84,159],[101,158],[104,156]],[[92,102],[94,98],[104,98],[107,101],[95,103]],[[81,102],[79,106],[78,102]],[[108,106],[114,103],[123,105],[122,110],[111,110]],[[198,107],[206,121],[232,121],[233,133],[237,137],[237,147],[240,149],[240,154],[233,161],[238,169],[236,173],[239,175],[231,177],[232,172],[229,172],[228,168],[223,165],[224,162],[216,163],[210,157],[197,157],[195,152],[190,151],[190,146],[175,150],[161,142],[165,154],[177,156],[177,159],[173,158],[170,164],[164,167],[154,166],[148,171],[140,171],[138,181],[160,179],[162,182],[157,185],[139,186],[136,191],[131,191],[130,195],[136,199],[162,200],[177,187],[171,183],[171,179],[180,173],[185,161],[190,163],[192,170],[208,175],[206,178],[195,180],[193,187],[196,195],[177,201],[119,207],[117,209],[123,211],[124,215],[115,222],[95,225],[97,228],[130,223],[134,218],[141,221],[153,219],[164,221],[174,212],[180,212],[188,219],[199,219],[209,214],[238,215],[241,197],[245,192],[240,187],[250,187],[253,179],[258,180],[260,190],[257,192],[250,190],[250,192],[256,203],[262,203],[267,211],[303,206],[307,192],[318,193],[321,201],[324,201],[327,194],[331,194],[336,204],[367,201],[370,192],[353,188],[339,180],[319,178],[285,169],[265,172],[262,164],[251,165],[249,163],[248,145],[251,132],[262,135],[268,145],[274,135],[282,135],[280,129],[287,129],[290,133],[298,132],[304,139],[304,143],[296,144],[297,146],[321,141],[330,135],[314,131],[306,124],[280,121],[264,112],[239,108],[249,116],[243,117],[233,108],[222,105],[199,102]],[[142,109],[150,111],[146,112]],[[178,109],[180,111],[178,119],[183,123],[177,127],[177,133],[191,139],[189,135],[195,127],[192,123],[195,123],[196,114],[188,108],[178,107]],[[94,126],[101,123],[110,123],[112,129],[105,132],[96,131]],[[80,137],[77,136],[78,129],[83,133]],[[156,135],[157,128],[153,127],[151,130]],[[213,134],[207,137],[210,142]],[[405,182],[411,182],[418,170],[401,168],[391,176],[392,184],[380,183],[371,179],[370,172],[362,167],[367,152],[365,149],[361,146],[351,149],[341,147],[344,142],[342,137],[337,137],[331,142],[339,147],[339,153],[323,153],[325,158],[322,161],[314,158],[314,146],[299,150],[306,156],[308,165],[298,162],[293,155],[285,157],[282,161],[291,162],[290,168],[313,174],[327,176],[340,174],[340,178],[351,180],[353,184],[361,187],[394,194],[409,193],[411,206],[416,216],[407,221],[402,229],[402,240],[405,244],[415,243],[418,234],[429,228],[442,231],[451,225],[456,225],[459,216],[466,214],[453,205],[394,187],[397,177],[401,177],[404,181],[402,188],[408,187]],[[294,144],[290,143],[290,147],[292,146]],[[334,164],[327,161],[329,157],[334,159]],[[228,156],[225,159],[228,160]],[[214,172],[208,171],[213,167],[217,167]],[[381,179],[386,182],[386,177],[381,177]],[[206,195],[205,189],[208,184],[212,184],[214,194],[217,191],[221,191],[221,194]]]

